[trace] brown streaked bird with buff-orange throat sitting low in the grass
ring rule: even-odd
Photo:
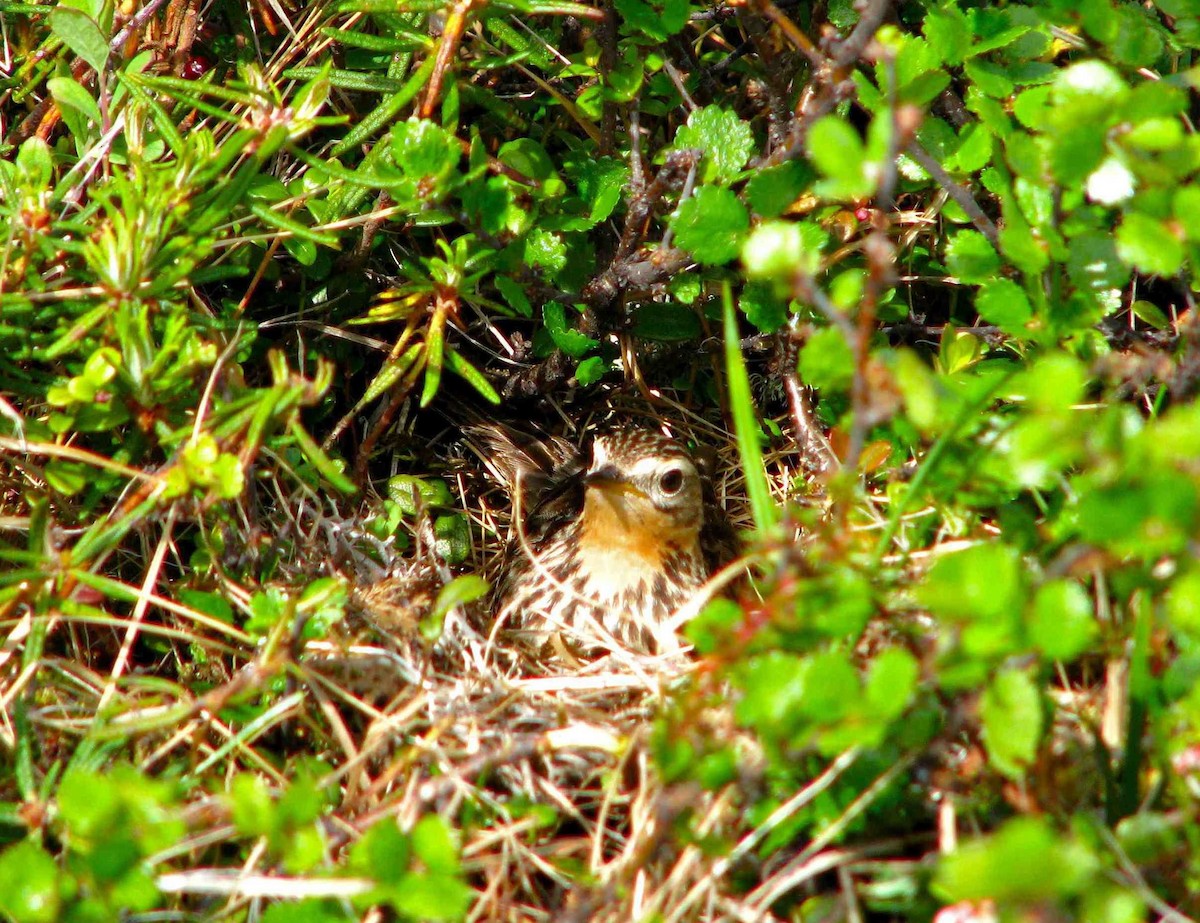
[[[672,617],[728,545],[704,466],[632,425],[595,436],[590,451],[497,425],[472,434],[514,503],[497,622],[539,649],[678,651]]]

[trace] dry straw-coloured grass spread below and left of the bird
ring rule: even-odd
[[[718,493],[744,525],[732,440],[698,416],[684,419],[690,425],[677,434],[715,450]],[[794,474],[787,461],[772,462],[781,493]],[[506,501],[469,456],[448,458],[446,467],[470,504],[475,546],[463,569],[490,570],[508,528]],[[283,480],[262,483],[233,517],[245,538],[224,531],[226,557],[209,579],[180,558],[173,514],[148,521],[140,551],[118,567],[127,605],[82,586],[77,605],[42,623],[28,615],[7,623],[6,749],[20,736],[12,705],[36,684],[36,705],[22,720],[43,767],[98,748],[149,775],[203,783],[251,772],[280,787],[298,761],[316,757],[325,767],[317,786],[336,805],[324,820],[335,851],[380,819],[407,828],[440,814],[463,838],[476,889],[470,919],[766,918],[733,897],[725,874],[733,862],[714,864],[677,835],[686,820],[698,835],[733,838],[743,807],[733,790],[665,786],[653,767],[654,720],[672,693],[683,690],[707,724],[734,733],[728,711],[713,707],[720,700],[710,678],[696,681],[697,664],[620,648],[588,661],[534,655],[490,633],[482,605],[451,611],[430,642],[421,619],[454,575],[433,553],[427,516],[414,528],[413,549],[401,552],[362,528],[377,507],[368,501],[347,513]],[[204,527],[203,515],[197,521]],[[274,574],[269,586],[235,577],[263,573]],[[281,622],[262,641],[235,627],[257,593],[295,598],[330,576],[352,588],[353,603],[328,636],[305,640],[304,618]],[[230,623],[172,601],[197,588],[244,617]],[[31,659],[35,624],[46,629],[46,647]],[[247,707],[252,718],[230,718]],[[744,755],[752,774],[749,742]],[[238,876],[214,867],[238,832],[210,786],[192,792],[190,835],[158,857],[180,869],[161,876],[164,891],[209,911],[220,898],[221,911],[234,912],[264,897],[352,887],[301,886],[280,876],[264,851],[252,852]]]

